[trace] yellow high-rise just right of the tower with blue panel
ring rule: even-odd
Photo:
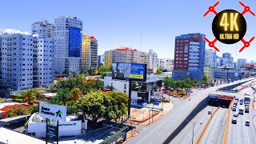
[[[82,37],[82,69],[98,69],[98,40],[90,35]]]

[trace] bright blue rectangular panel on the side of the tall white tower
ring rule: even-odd
[[[82,35],[81,29],[70,26],[69,57],[81,57]]]

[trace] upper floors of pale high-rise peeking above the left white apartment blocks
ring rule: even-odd
[[[32,34],[38,34],[38,38],[54,38],[54,24],[48,20],[34,22],[32,24]]]

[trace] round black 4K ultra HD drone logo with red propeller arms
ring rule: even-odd
[[[217,13],[214,8],[218,3],[219,2],[216,2],[214,6],[209,6],[208,11],[203,15],[203,17],[205,17],[210,12],[215,14],[212,22],[212,31],[215,37],[214,41],[210,42],[206,37],[204,37],[204,39],[209,43],[210,47],[213,47],[217,51],[219,51],[218,47],[214,46],[214,43],[217,41],[225,44],[234,44],[241,41],[244,44],[239,50],[239,52],[241,52],[246,47],[249,47],[250,42],[254,40],[254,37],[250,38],[248,42],[243,39],[247,29],[246,19],[243,15],[246,14],[246,12],[254,16],[255,14],[250,10],[249,6],[246,6],[242,2],[239,2],[240,5],[244,7],[242,13],[239,13],[237,10],[222,10]]]

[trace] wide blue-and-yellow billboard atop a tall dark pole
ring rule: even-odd
[[[125,80],[130,78],[131,81],[146,81],[146,64],[138,63],[113,63],[112,79]]]

